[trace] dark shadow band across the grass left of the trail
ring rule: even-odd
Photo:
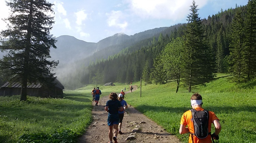
[[[82,102],[89,102],[89,99],[76,98],[76,100],[82,100]],[[38,103],[37,103],[38,104]],[[38,104],[40,105],[40,104]],[[36,105],[33,105],[36,106]],[[42,107],[43,106],[43,107]],[[19,121],[27,121],[27,122],[40,122],[44,126],[49,126],[47,123],[43,123],[43,121],[53,120],[58,121],[60,123],[70,124],[73,121],[71,119],[79,117],[85,114],[85,111],[88,111],[86,115],[90,115],[90,111],[92,108],[91,104],[79,104],[74,105],[72,103],[46,103],[44,105],[40,105],[34,108],[23,108],[23,107],[1,107],[1,111],[8,115],[9,119],[19,119]],[[81,112],[81,110],[83,110]]]

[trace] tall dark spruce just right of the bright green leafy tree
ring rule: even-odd
[[[190,7],[184,47],[184,82],[188,86],[188,92],[191,92],[191,86],[202,84],[214,77],[213,57],[209,53],[210,47],[204,40],[204,29],[195,1]]]

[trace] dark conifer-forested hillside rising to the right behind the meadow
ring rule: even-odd
[[[155,84],[175,79],[178,89],[183,79],[191,90],[191,86],[211,80],[214,73],[229,72],[234,75],[233,81],[246,82],[256,73],[252,64],[256,63],[254,4],[221,10],[207,19],[195,17],[198,13],[194,11],[186,24],[139,41],[107,60],[98,59],[88,67],[81,64],[79,72],[74,73],[79,78],[70,80],[74,79],[73,85],[85,85],[139,81],[140,77]],[[197,10],[196,5],[191,9]],[[174,53],[180,54],[168,55],[175,48]]]

